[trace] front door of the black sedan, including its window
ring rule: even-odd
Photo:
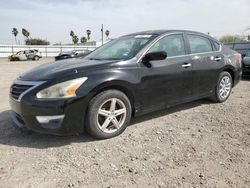
[[[150,68],[140,63],[141,99],[144,107],[157,108],[181,103],[192,96],[192,66],[183,34],[161,38],[147,53],[164,51],[167,58],[151,61]],[[146,53],[146,54],[147,54]]]

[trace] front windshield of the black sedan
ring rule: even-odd
[[[157,35],[132,35],[112,40],[86,57],[89,60],[128,60]]]

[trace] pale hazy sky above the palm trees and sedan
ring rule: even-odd
[[[0,1],[0,44],[14,44],[11,31],[22,28],[51,44],[70,43],[92,31],[101,40],[101,24],[110,37],[154,29],[187,29],[220,37],[250,27],[250,0],[8,0]]]

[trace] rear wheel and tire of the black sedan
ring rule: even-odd
[[[223,84],[223,82],[225,84]],[[232,86],[233,86],[233,81],[232,81],[231,74],[226,71],[220,73],[217,84],[216,84],[216,88],[215,88],[215,94],[210,99],[217,103],[225,102],[231,94]]]

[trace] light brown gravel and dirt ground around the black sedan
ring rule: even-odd
[[[110,140],[21,132],[8,114],[10,84],[50,60],[0,60],[0,187],[250,187],[250,80],[226,103],[139,117]]]

